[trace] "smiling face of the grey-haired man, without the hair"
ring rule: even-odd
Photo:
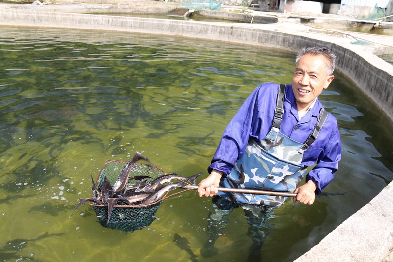
[[[335,78],[325,68],[327,59],[323,55],[303,55],[296,64],[292,77],[292,89],[298,111],[308,110],[309,106],[328,88]]]

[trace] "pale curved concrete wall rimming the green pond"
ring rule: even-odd
[[[159,23],[157,23],[159,22]],[[283,25],[285,24],[285,25]],[[282,21],[274,25],[239,25],[175,20],[96,16],[37,10],[0,9],[0,25],[129,31],[176,35],[216,41],[263,45],[296,52],[303,46],[328,45],[337,53],[338,70],[346,74],[393,120],[393,66],[376,57],[390,46],[351,45],[351,39],[315,35]],[[392,38],[388,39],[392,40]],[[392,183],[370,203],[344,221],[317,246],[296,261],[381,261],[392,248]],[[375,225],[369,222],[375,221]],[[376,225],[378,227],[376,227]],[[339,252],[339,253],[338,253]]]

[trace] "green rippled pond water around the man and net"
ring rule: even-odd
[[[204,258],[210,198],[163,201],[156,220],[125,234],[77,199],[105,160],[139,151],[168,173],[206,168],[253,89],[291,83],[295,54],[230,43],[63,29],[0,29],[0,261],[246,261],[241,208]],[[339,59],[339,58],[338,58]],[[293,261],[392,179],[393,128],[345,76],[320,99],[336,116],[342,160],[312,206],[275,209],[264,261]],[[197,182],[199,182],[198,179]],[[174,243],[177,235],[188,241]],[[253,257],[253,254],[250,255]],[[193,260],[195,261],[195,260]],[[252,261],[252,260],[251,260]]]

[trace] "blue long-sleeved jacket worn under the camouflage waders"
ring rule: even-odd
[[[257,141],[265,138],[272,127],[277,93],[278,84],[273,83],[263,84],[251,93],[226,127],[208,168],[209,173],[215,169],[223,171],[225,176],[229,175],[244,153],[249,137]],[[321,108],[322,104],[317,99],[313,108],[298,121],[292,85],[286,85],[281,133],[298,142],[305,142],[314,130]],[[329,113],[318,138],[304,152],[302,160],[302,165],[305,166],[316,164],[306,175],[306,181],[312,180],[316,183],[316,194],[333,180],[340,159],[341,140],[337,120]]]

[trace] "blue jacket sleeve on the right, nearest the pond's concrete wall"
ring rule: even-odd
[[[327,141],[315,167],[306,175],[306,182],[312,180],[316,183],[316,194],[321,193],[334,178],[341,159],[341,140],[336,122],[336,130]]]

